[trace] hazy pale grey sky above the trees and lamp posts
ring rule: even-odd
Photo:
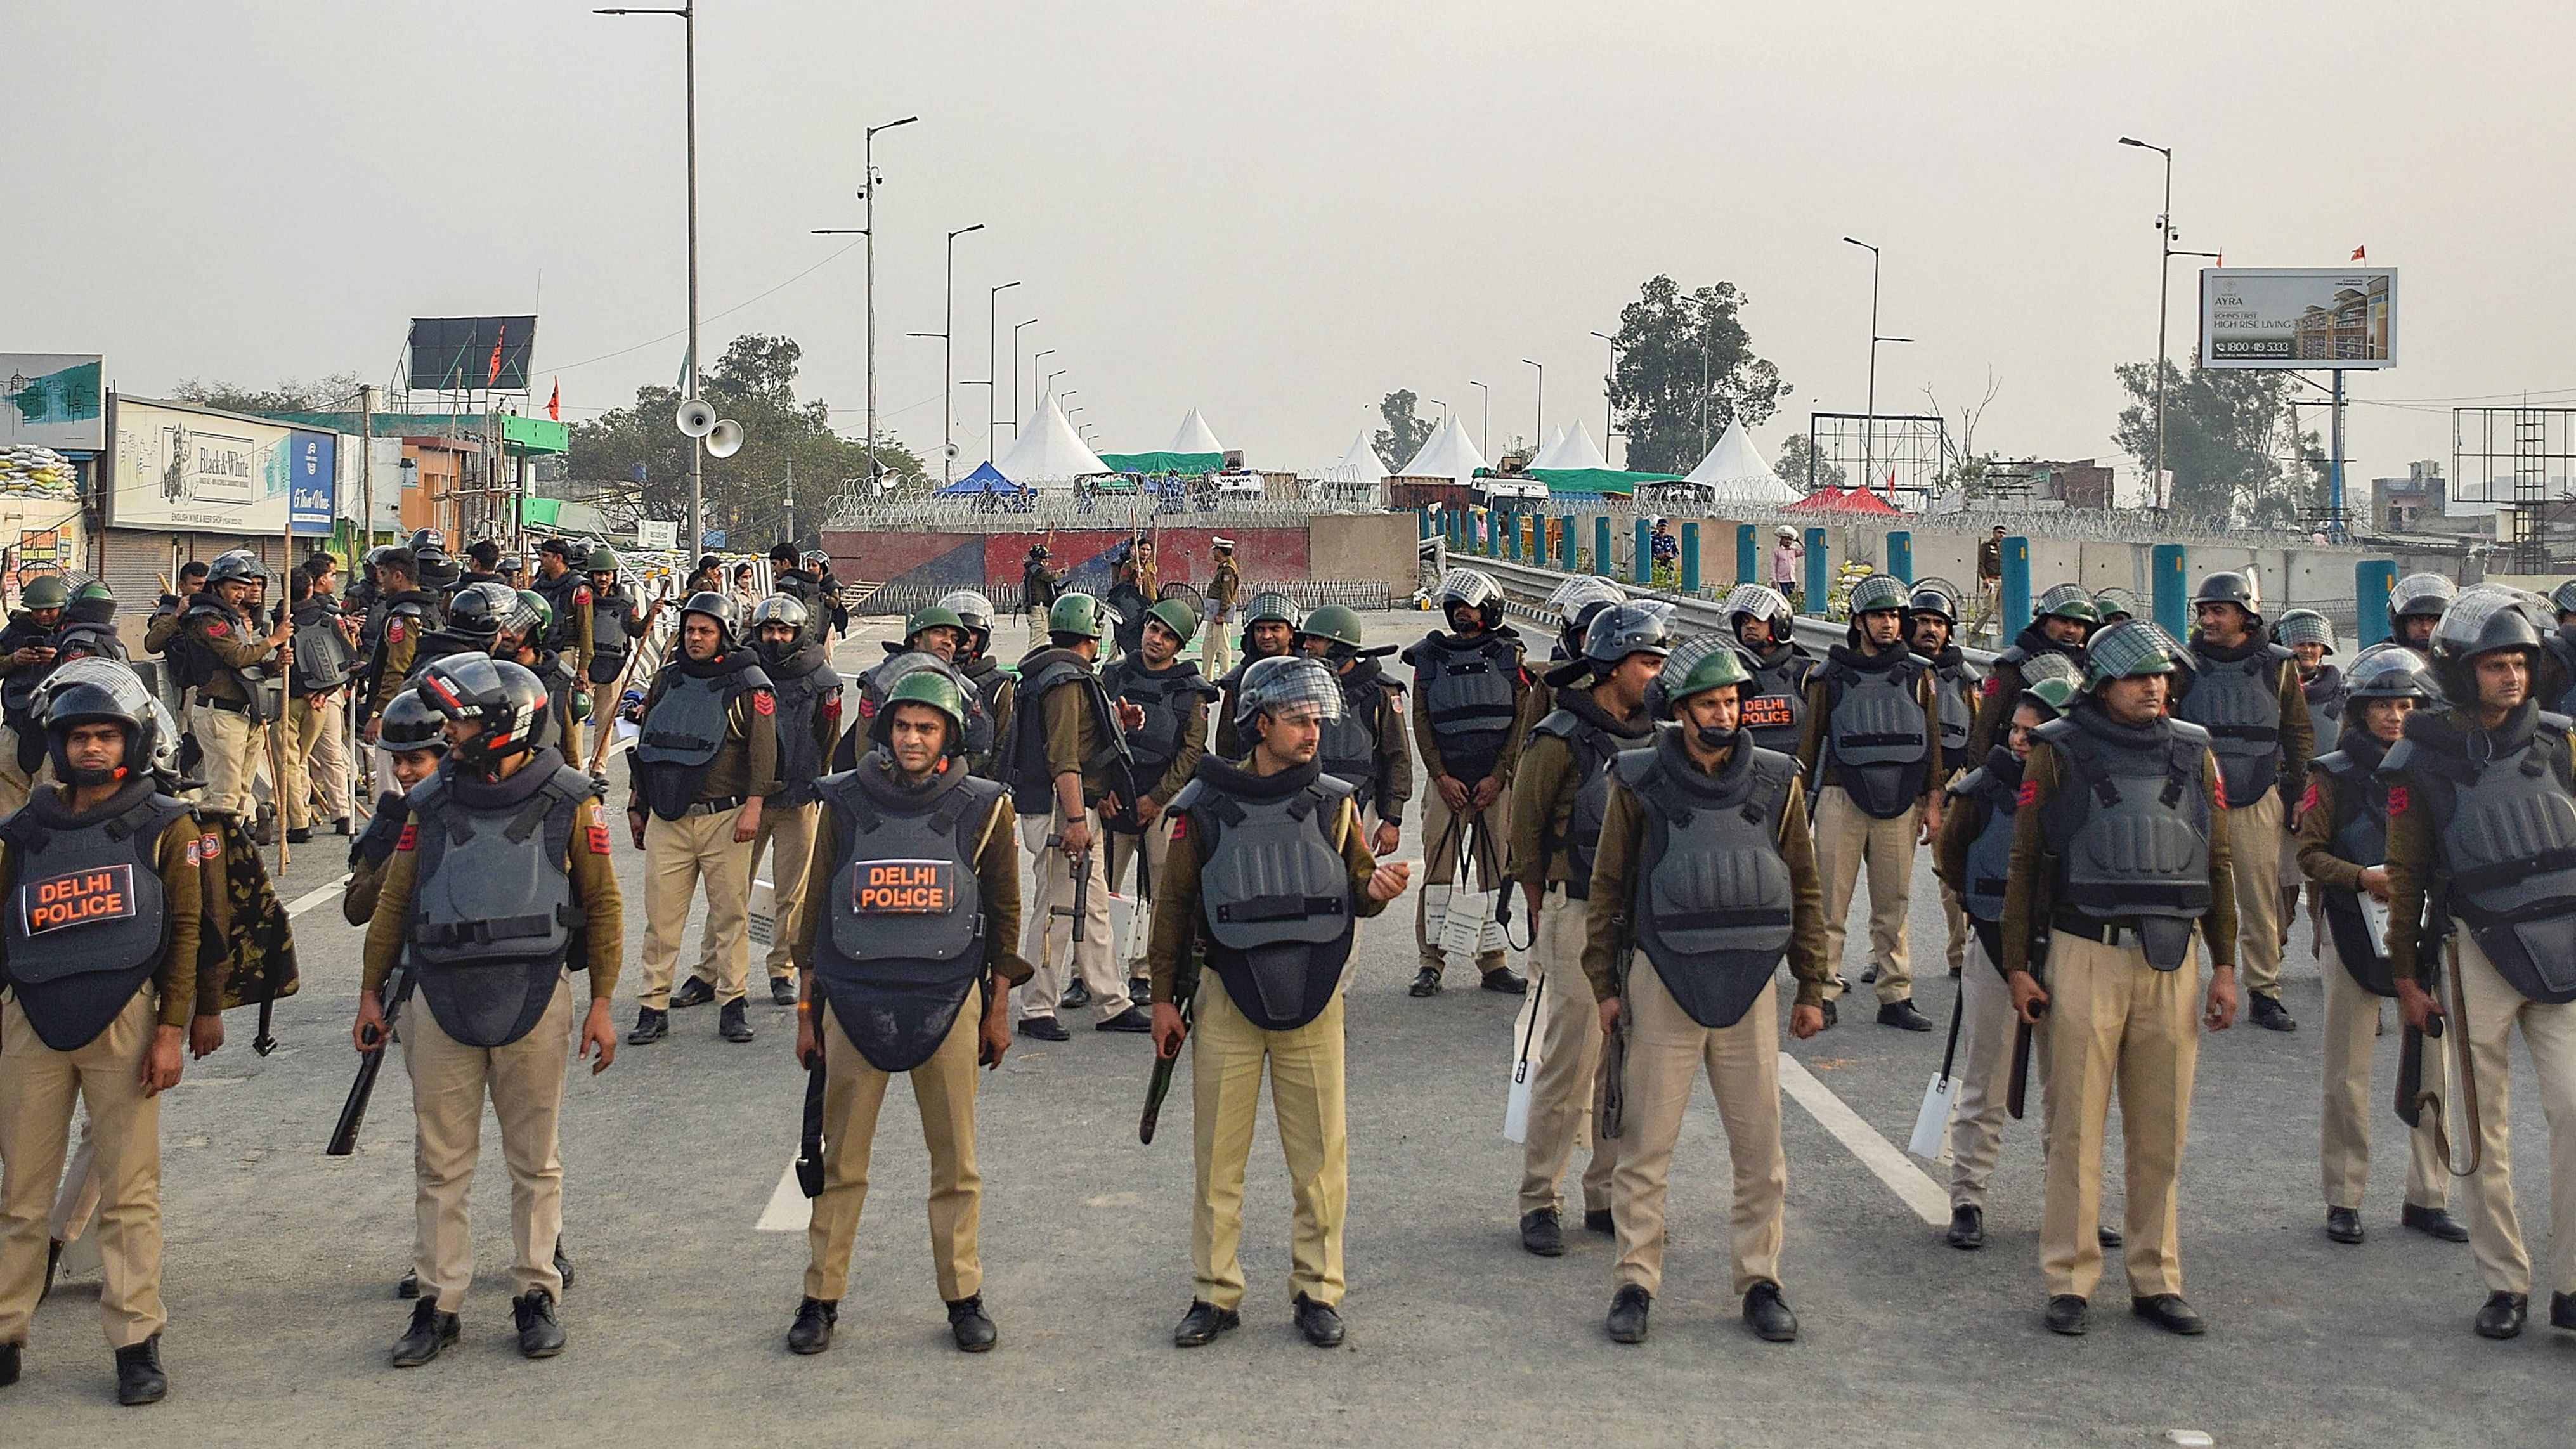
[[[392,376],[415,314],[544,311],[567,417],[672,381],[680,23],[556,0],[0,5],[0,350],[185,376]],[[2184,247],[2401,268],[2398,358],[2354,373],[2354,476],[2450,456],[2447,401],[2576,401],[2568,5],[701,0],[706,350],[806,347],[860,432],[860,126],[878,139],[878,396],[938,448],[943,232],[958,376],[987,288],[1110,450],[1188,407],[1260,466],[1329,463],[1396,386],[1494,440],[1602,425],[1618,306],[1734,281],[1795,396],[2002,394],[1981,448],[2110,453],[2110,368],[2156,335],[2159,165]],[[2174,355],[2192,342],[2174,265]],[[544,275],[544,296],[538,296]],[[770,288],[778,288],[770,293]],[[760,301],[747,299],[757,293]],[[721,314],[721,317],[719,317]],[[1023,389],[1023,407],[1028,383]],[[1010,378],[1002,381],[1010,409]],[[958,443],[984,453],[984,394]],[[1002,448],[1007,448],[1007,432]],[[961,466],[963,471],[963,466]]]

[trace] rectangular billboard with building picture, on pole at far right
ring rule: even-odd
[[[2396,268],[2200,268],[2202,368],[2393,368]]]

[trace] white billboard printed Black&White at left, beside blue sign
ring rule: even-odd
[[[229,412],[116,399],[113,432],[108,528],[286,533],[296,430]]]

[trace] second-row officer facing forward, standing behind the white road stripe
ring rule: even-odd
[[[1878,1024],[1929,1032],[1914,1006],[1906,911],[1914,901],[1914,847],[1940,834],[1942,685],[1906,649],[1909,589],[1893,574],[1852,584],[1852,623],[1806,682],[1798,770],[1816,793],[1816,870],[1824,878],[1824,1019],[1842,996],[1842,921],[1870,870],[1870,970]]]

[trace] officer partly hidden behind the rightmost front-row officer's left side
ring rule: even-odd
[[[2290,623],[2290,620],[2282,620]],[[2370,929],[2362,901],[2388,909],[2388,790],[2380,775],[2388,749],[2406,736],[2406,715],[2442,697],[2432,669],[2414,649],[2385,643],[2352,661],[2344,731],[2329,754],[2308,762],[2300,800],[2298,865],[2313,880],[2326,916],[2326,1104],[2324,1186],[2326,1238],[2362,1241],[2362,1186],[2370,1181],[2370,1053],[2380,1027],[2380,999],[2396,996],[2383,934]],[[2342,970],[2336,970],[2342,968]],[[2439,1058],[2424,1063],[2442,1091]],[[2439,1120],[2409,1132],[2406,1228],[2465,1243],[2450,1204],[2450,1163],[2442,1161]]]

